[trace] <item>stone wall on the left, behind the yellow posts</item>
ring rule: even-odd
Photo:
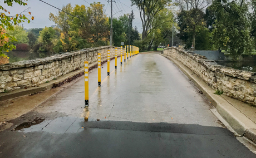
[[[98,53],[101,53],[101,58],[107,58],[107,50],[110,50],[110,56],[115,56],[115,47],[103,46],[0,65],[0,92],[34,87],[52,81],[83,67],[84,61],[89,64],[97,62]],[[117,47],[117,51],[120,54],[120,47]]]

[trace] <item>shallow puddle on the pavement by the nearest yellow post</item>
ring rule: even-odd
[[[96,121],[88,119],[87,121]],[[19,132],[50,132],[53,134],[76,133],[84,130],[83,123],[87,122],[81,117],[58,117],[54,120],[36,118],[31,122],[24,122],[15,128]]]

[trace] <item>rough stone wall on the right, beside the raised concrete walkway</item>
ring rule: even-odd
[[[254,72],[217,65],[205,56],[176,47],[166,48],[163,53],[183,63],[211,88],[221,90],[225,95],[250,105],[256,105],[256,75]]]

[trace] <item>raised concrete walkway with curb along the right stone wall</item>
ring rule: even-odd
[[[199,77],[196,77],[188,67],[170,56],[162,56],[173,61],[194,82],[196,87],[203,92],[204,96],[215,107],[211,111],[230,131],[237,136],[244,136],[256,144],[256,107],[225,95],[215,95],[215,91]]]

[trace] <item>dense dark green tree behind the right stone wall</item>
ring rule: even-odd
[[[248,3],[246,1],[214,1],[211,9],[216,12],[213,42],[216,48],[225,49],[237,58],[252,51]]]

